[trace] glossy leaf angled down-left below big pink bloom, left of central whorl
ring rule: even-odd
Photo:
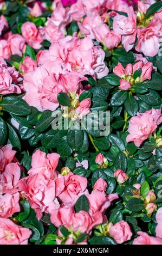
[[[52,113],[53,112],[49,110],[42,112],[40,119],[38,119],[36,123],[36,127],[35,127],[36,132],[41,133],[51,125],[52,121],[54,120],[54,117],[52,117]]]

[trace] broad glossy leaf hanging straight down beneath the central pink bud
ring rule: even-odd
[[[84,133],[81,129],[79,130],[68,130],[67,133],[67,143],[73,151],[78,151],[83,144]]]

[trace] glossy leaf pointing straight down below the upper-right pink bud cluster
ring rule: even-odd
[[[127,99],[125,101],[125,109],[126,112],[133,117],[133,115],[136,115],[139,110],[138,101],[135,100],[134,96],[132,94],[128,94]]]

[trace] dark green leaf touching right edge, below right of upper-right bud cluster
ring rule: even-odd
[[[154,90],[150,90],[149,93],[138,96],[142,101],[146,102],[148,105],[157,106],[161,104],[160,95]]]

